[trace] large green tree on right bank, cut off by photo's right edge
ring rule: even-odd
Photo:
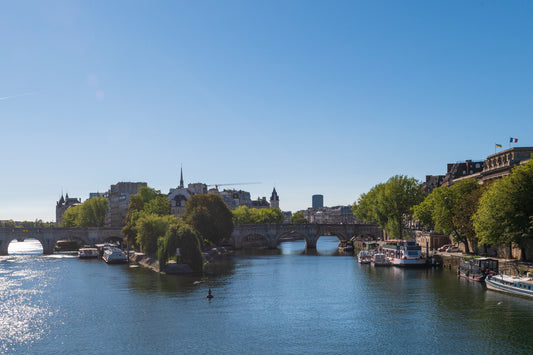
[[[481,244],[515,243],[525,258],[533,238],[533,160],[487,189],[473,221]]]

